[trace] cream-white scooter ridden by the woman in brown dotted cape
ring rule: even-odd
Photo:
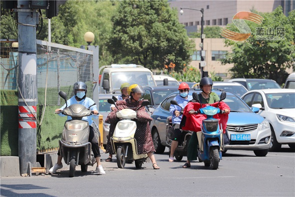
[[[107,102],[114,104],[112,99],[107,99]],[[149,105],[148,101],[143,101],[141,106]],[[113,135],[110,136],[110,143],[112,152],[116,154],[117,166],[124,168],[125,163],[132,163],[135,161],[135,167],[141,168],[142,163],[146,160],[147,154],[137,153],[137,144],[134,134],[136,131],[136,122],[132,119],[136,119],[137,109],[122,109],[116,112],[117,118],[121,120],[117,122]],[[116,107],[117,108],[117,107]]]

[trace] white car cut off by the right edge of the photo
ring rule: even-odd
[[[276,151],[281,144],[295,148],[295,90],[267,89],[252,90],[244,94],[248,106],[260,108],[258,114],[270,124],[270,151]]]

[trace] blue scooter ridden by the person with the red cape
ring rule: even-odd
[[[198,94],[192,94],[193,100],[200,103]],[[224,100],[226,93],[222,92],[220,95],[220,101]],[[218,102],[218,105],[219,105]],[[217,106],[218,106],[217,105]],[[196,132],[198,139],[198,158],[199,161],[203,161],[206,167],[211,166],[212,169],[217,169],[220,159],[222,159],[221,150],[223,150],[222,126],[219,127],[218,119],[213,118],[213,115],[217,113],[224,113],[224,110],[213,106],[206,106],[200,108],[194,113],[205,114],[206,119],[202,120],[200,125],[201,132]]]

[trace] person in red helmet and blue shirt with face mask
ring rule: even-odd
[[[188,101],[192,100],[192,96],[188,95],[189,86],[187,83],[182,82],[178,86],[179,95],[176,95],[174,100],[184,109]],[[182,114],[180,114],[181,108],[177,105],[170,105],[169,108],[170,114],[172,115],[172,124],[173,124],[173,136],[170,148],[169,162],[174,161],[174,151],[178,146],[178,142],[183,140],[183,135],[181,130],[179,129],[179,125],[181,122]]]

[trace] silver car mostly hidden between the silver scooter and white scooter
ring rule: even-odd
[[[104,123],[106,116],[110,112],[110,104],[107,102],[107,99],[111,99],[112,96],[118,96],[119,94],[98,94],[98,99],[99,99],[99,108],[98,112],[99,115],[102,115],[102,120],[103,120],[103,144],[106,144],[107,142],[107,135],[109,132],[109,124]]]

